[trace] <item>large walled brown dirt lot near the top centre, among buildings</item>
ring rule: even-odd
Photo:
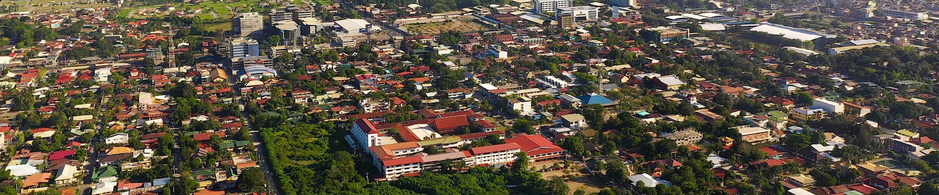
[[[450,30],[458,32],[471,32],[489,29],[481,23],[473,22],[472,19],[474,19],[472,16],[461,16],[403,21],[400,24],[402,30],[408,31],[408,33],[414,35],[438,35]]]

